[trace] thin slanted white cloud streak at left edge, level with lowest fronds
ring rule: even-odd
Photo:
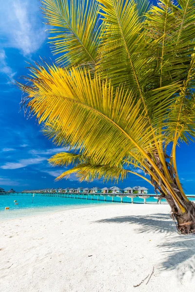
[[[47,160],[46,157],[36,157],[36,158],[29,158],[29,159],[21,159],[18,162],[7,162],[4,165],[1,165],[0,168],[2,169],[17,169],[22,168],[31,164],[39,164],[42,161]]]

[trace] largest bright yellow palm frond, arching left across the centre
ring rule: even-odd
[[[123,87],[91,78],[89,72],[70,72],[48,66],[32,68],[35,79],[28,93],[28,106],[41,122],[60,129],[66,142],[104,164],[118,165],[127,155],[145,159],[153,151],[153,131],[141,114],[141,101]],[[160,139],[160,137],[159,137]],[[108,150],[109,149],[109,150]]]

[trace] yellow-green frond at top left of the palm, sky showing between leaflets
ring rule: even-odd
[[[97,63],[98,3],[96,0],[41,0],[42,12],[54,34],[49,37],[58,62],[66,66]]]

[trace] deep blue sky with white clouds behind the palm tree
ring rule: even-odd
[[[40,132],[35,119],[27,120],[20,111],[21,92],[12,81],[27,75],[26,62],[39,61],[39,56],[52,57],[47,33],[37,0],[0,0],[0,187],[8,190],[105,186],[102,181],[79,183],[75,176],[55,183],[63,168],[50,167],[47,159],[62,148],[55,147]],[[178,172],[187,194],[195,193],[195,144],[182,144],[177,149]],[[113,183],[107,183],[108,186]],[[153,187],[130,175],[118,186]]]

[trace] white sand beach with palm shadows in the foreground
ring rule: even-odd
[[[188,289],[195,289],[195,236],[177,234],[166,204],[112,204],[0,222],[0,292]]]

